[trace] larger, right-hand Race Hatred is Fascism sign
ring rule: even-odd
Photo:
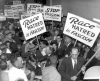
[[[99,32],[98,24],[68,13],[63,33],[92,47]]]

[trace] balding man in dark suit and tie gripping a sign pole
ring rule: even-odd
[[[79,76],[77,73],[82,69],[85,70],[83,66],[84,59],[78,57],[78,48],[73,47],[71,50],[71,57],[65,57],[59,68],[59,72],[62,76],[62,81],[78,81]]]

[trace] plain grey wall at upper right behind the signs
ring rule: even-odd
[[[52,3],[62,5],[64,16],[70,12],[89,20],[100,19],[100,0],[52,0]]]

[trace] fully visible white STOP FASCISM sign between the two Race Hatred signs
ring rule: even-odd
[[[44,6],[44,19],[61,21],[62,9],[54,6]]]

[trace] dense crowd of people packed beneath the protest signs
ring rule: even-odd
[[[100,65],[98,53],[84,67],[100,47],[99,36],[89,47],[64,35],[61,23],[50,26],[46,24],[47,32],[25,40],[17,21],[0,23],[0,81],[82,81],[86,69]]]

